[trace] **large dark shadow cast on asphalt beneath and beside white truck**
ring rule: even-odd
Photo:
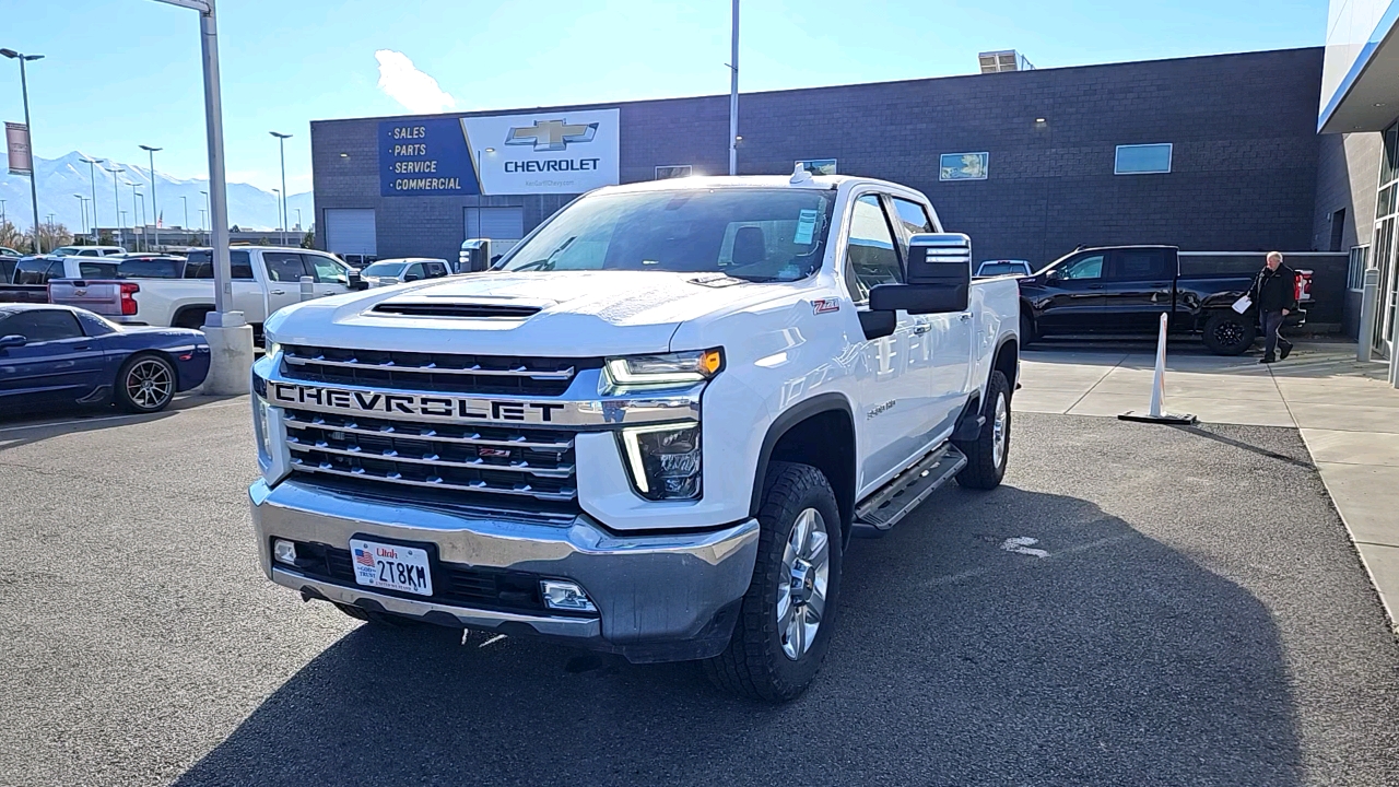
[[[1301,783],[1269,611],[1093,503],[944,490],[845,566],[788,706],[686,664],[364,626],[178,784]]]

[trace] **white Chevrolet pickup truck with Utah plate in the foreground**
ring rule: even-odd
[[[379,623],[813,679],[842,553],[1006,469],[1014,279],[851,176],[592,192],[492,270],[273,315],[262,567]]]

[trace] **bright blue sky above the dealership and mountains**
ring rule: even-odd
[[[278,186],[267,132],[280,130],[295,134],[288,190],[308,190],[309,120],[404,113],[404,102],[470,111],[727,92],[729,8],[221,0],[229,181]],[[204,176],[194,11],[154,0],[0,0],[0,46],[46,55],[29,67],[38,155],[81,150],[134,162],[145,160],[144,143],[165,148],[157,169]],[[1326,0],[748,0],[741,87],[964,74],[985,49],[1020,49],[1055,67],[1315,46],[1325,25]],[[0,60],[0,119],[22,118],[18,67]]]

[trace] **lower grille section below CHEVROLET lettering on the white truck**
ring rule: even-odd
[[[574,434],[504,426],[420,422],[287,409],[292,471],[376,489],[411,486],[463,503],[502,496],[575,504]]]

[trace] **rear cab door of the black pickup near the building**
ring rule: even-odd
[[[1172,249],[1114,249],[1102,281],[1101,325],[1118,333],[1153,333],[1172,308]]]

